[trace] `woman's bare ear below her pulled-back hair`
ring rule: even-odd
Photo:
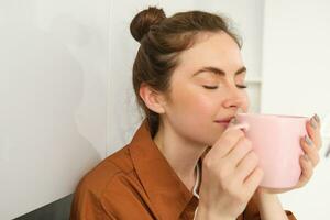
[[[146,84],[142,84],[139,90],[140,97],[143,99],[145,106],[156,112],[156,113],[165,113],[164,105],[165,99],[164,96],[154,90],[151,86]]]

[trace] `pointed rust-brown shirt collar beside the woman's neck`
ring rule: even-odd
[[[161,219],[179,219],[191,201],[197,207],[198,200],[154,143],[146,120],[131,141],[130,153],[136,174]]]

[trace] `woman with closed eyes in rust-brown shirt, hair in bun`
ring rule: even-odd
[[[72,219],[295,219],[279,191],[257,188],[263,170],[234,116],[248,111],[241,44],[216,14],[166,18],[143,10],[133,85],[145,120],[130,144],[79,183]],[[319,161],[317,116],[306,124],[304,186]],[[284,191],[284,190],[283,190]]]

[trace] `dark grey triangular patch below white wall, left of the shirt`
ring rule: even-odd
[[[72,194],[14,220],[68,220],[73,197]]]

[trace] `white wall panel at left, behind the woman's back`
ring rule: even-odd
[[[72,194],[106,156],[109,9],[0,1],[0,219]]]

